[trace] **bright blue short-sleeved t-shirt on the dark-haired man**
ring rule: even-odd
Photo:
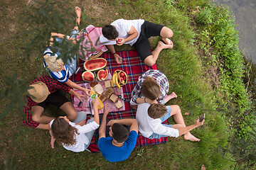
[[[102,152],[103,157],[109,162],[122,162],[129,158],[132,153],[137,141],[137,132],[132,130],[129,133],[129,137],[124,142],[122,147],[116,147],[112,145],[112,137],[100,138],[97,146]]]

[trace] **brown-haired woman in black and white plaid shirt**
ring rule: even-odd
[[[164,73],[157,69],[144,72],[132,91],[130,104],[137,106],[139,103],[166,103],[177,95],[169,92],[169,81]]]

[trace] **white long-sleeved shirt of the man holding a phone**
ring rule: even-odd
[[[179,133],[177,129],[169,128],[161,123],[160,118],[150,118],[147,111],[149,103],[141,103],[138,105],[136,119],[139,124],[139,132],[144,137],[150,137],[153,132],[159,135],[168,135],[171,137],[178,137]]]

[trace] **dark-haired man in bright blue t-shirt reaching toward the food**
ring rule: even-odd
[[[110,125],[110,137],[106,137],[106,119],[111,108],[107,107],[108,106],[106,105],[104,108],[97,146],[107,161],[122,162],[125,159],[128,159],[136,145],[138,123],[134,118],[110,120],[107,123],[107,125]],[[130,126],[129,132],[124,125]]]

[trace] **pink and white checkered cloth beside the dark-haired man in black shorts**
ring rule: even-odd
[[[90,44],[90,40],[87,38],[85,30],[90,36],[93,47]],[[102,28],[89,25],[84,30],[82,30],[80,34],[76,37],[77,40],[80,40],[81,37],[84,38],[84,40],[82,40],[80,44],[82,45],[82,49],[79,50],[79,55],[82,57],[83,60],[88,60],[88,58],[92,56],[92,54],[97,55],[97,53],[99,53],[99,50],[101,50],[102,52],[107,51],[106,45],[100,42],[100,35],[102,35]],[[85,59],[83,58],[83,55],[85,55]]]

